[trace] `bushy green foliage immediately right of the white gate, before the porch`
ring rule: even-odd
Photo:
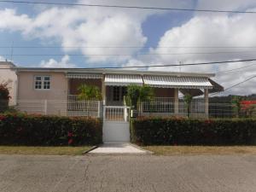
[[[141,102],[149,102],[154,98],[154,89],[146,84],[139,86],[131,84],[127,87],[127,95],[125,97],[126,104],[135,109]]]

